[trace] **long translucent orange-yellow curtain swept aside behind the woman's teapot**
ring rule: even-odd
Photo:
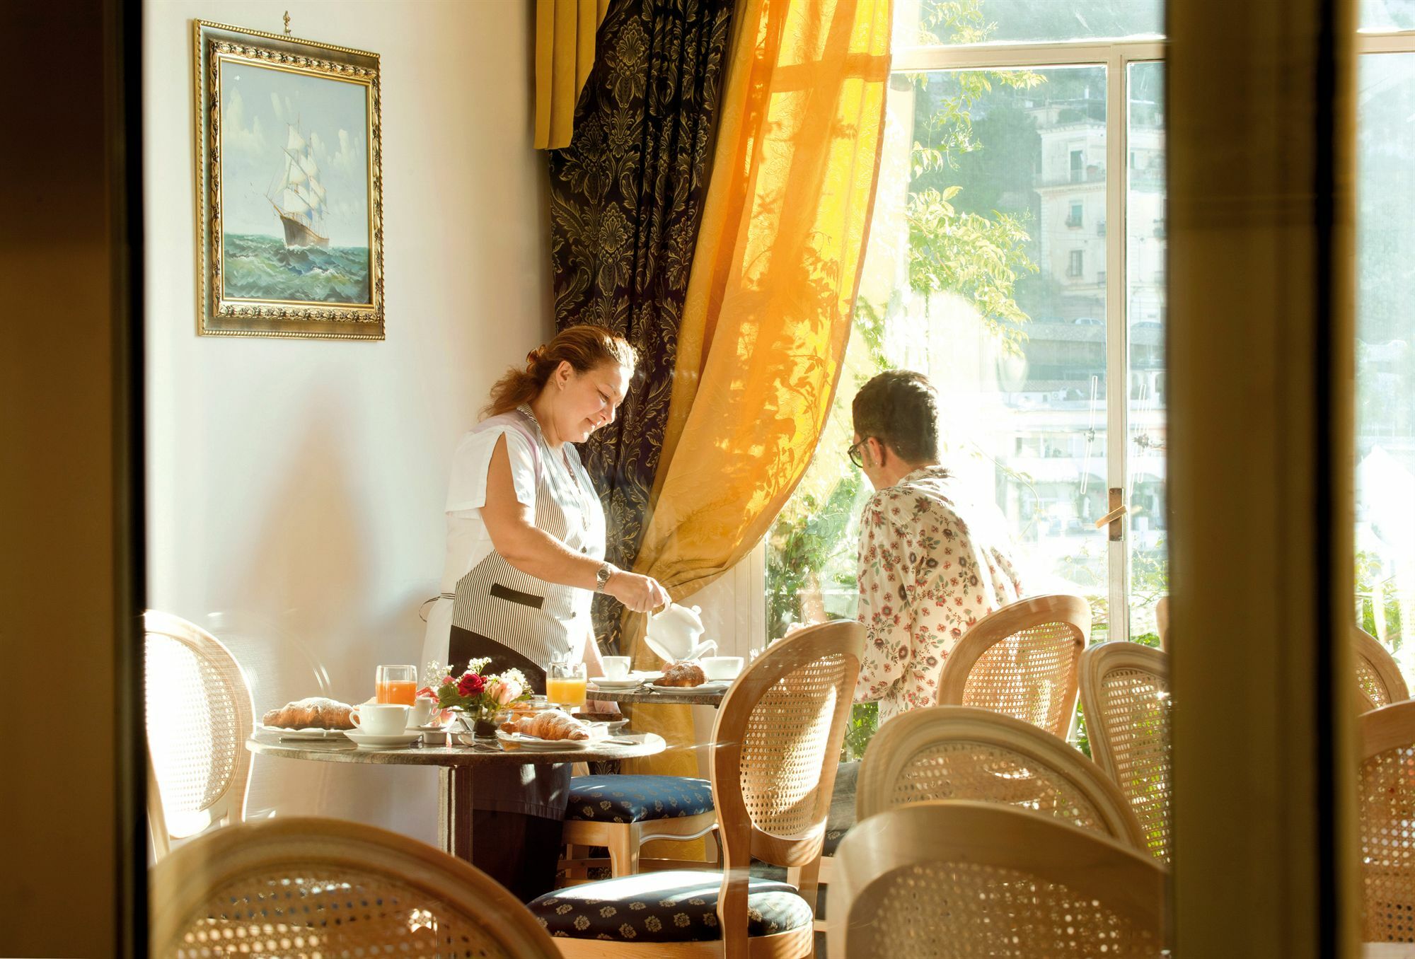
[[[879,173],[890,0],[741,0],[734,33],[634,566],[675,600],[761,540],[831,410]],[[625,637],[642,632],[634,617]],[[688,707],[640,706],[634,727],[676,747],[637,771],[696,775]]]

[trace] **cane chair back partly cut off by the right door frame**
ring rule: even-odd
[[[1102,642],[1081,656],[1081,710],[1091,755],[1115,781],[1145,830],[1170,859],[1169,658],[1133,642]]]

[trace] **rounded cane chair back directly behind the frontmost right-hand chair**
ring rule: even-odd
[[[856,819],[930,799],[1030,809],[1143,849],[1135,813],[1099,767],[1050,733],[990,710],[917,709],[870,740]]]

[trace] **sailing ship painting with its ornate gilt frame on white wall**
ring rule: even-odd
[[[382,339],[378,54],[192,27],[198,331]]]

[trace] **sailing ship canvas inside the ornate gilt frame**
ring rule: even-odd
[[[372,306],[369,88],[221,65],[222,296]]]

